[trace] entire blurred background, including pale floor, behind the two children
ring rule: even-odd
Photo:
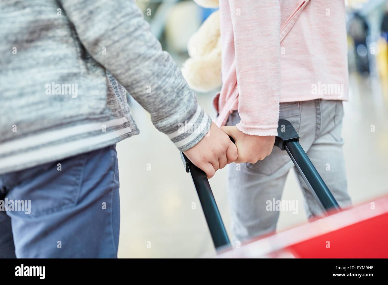
[[[388,194],[388,13],[387,0],[347,0],[350,100],[344,103],[343,139],[348,192],[354,205]],[[138,0],[152,33],[179,66],[189,57],[187,42],[214,9],[192,0]],[[218,90],[197,93],[215,119],[211,100]],[[140,135],[117,145],[121,228],[119,257],[206,257],[215,254],[201,206],[180,153],[134,100],[131,110]],[[374,130],[371,131],[371,126]],[[230,233],[227,171],[210,179],[223,221]],[[284,200],[303,201],[290,171]],[[277,231],[306,223],[298,214],[281,212]]]

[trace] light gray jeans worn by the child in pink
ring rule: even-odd
[[[290,121],[300,136],[300,144],[341,207],[350,206],[341,138],[342,101],[311,100],[280,104],[279,119]],[[240,122],[237,111],[228,126]],[[268,211],[280,201],[289,169],[294,166],[285,150],[272,153],[255,164],[230,164],[228,199],[232,231],[238,240],[275,231],[279,211]],[[297,171],[296,171],[297,172]],[[308,218],[322,215],[322,208],[298,174]],[[271,201],[271,202],[268,202]]]

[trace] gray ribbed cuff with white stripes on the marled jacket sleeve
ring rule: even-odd
[[[180,151],[191,149],[208,133],[211,117],[199,105],[191,119],[178,124],[178,130],[167,136]]]

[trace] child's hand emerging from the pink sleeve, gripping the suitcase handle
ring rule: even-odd
[[[247,135],[237,129],[236,126],[221,127],[227,135],[236,142],[239,157],[236,163],[256,163],[270,155],[275,143],[275,136]]]

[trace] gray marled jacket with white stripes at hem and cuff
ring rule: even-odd
[[[179,150],[210,128],[133,0],[1,0],[0,55],[0,173],[136,135],[126,91]]]

